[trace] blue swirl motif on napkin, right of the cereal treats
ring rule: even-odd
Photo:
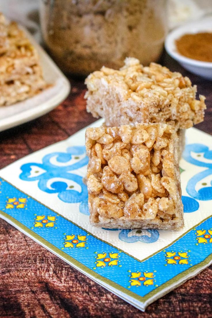
[[[198,158],[211,160],[211,162],[202,162],[201,160],[198,160],[198,158],[194,158],[191,156],[191,152],[197,153]],[[212,150],[209,150],[209,147],[203,145],[203,144],[190,144],[187,145],[184,154],[184,159],[199,167],[205,167],[208,169],[205,169],[202,172],[197,173],[195,176],[193,176],[187,184],[186,191],[188,194],[197,200],[212,200],[212,181],[210,182],[209,186],[206,186],[206,183],[202,183],[201,189],[198,191],[195,189],[195,186],[198,182],[200,182],[202,179],[206,178],[207,176],[212,175]]]

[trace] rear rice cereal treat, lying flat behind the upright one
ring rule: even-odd
[[[188,77],[138,59],[126,58],[120,70],[102,67],[85,80],[87,111],[104,117],[106,126],[166,123],[175,130],[203,121],[205,97],[196,100],[196,86]]]

